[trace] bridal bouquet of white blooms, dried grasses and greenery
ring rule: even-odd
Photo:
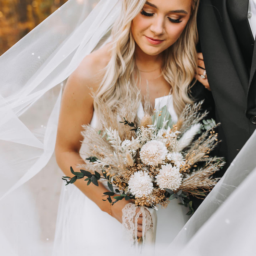
[[[89,164],[81,168],[87,171],[74,172],[71,167],[74,176],[62,179],[69,184],[85,178],[87,185],[97,186],[106,180],[110,191],[104,200],[112,205],[133,199],[135,206],[157,209],[179,198],[193,214],[188,195],[206,196],[218,182],[212,175],[224,165],[223,158],[209,155],[218,144],[218,134],[214,120],[204,120],[207,112],[199,112],[201,105],[187,105],[177,123],[165,106],[140,121],[123,111],[123,121],[102,122],[100,131],[85,125]]]

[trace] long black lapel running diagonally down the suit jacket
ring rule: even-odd
[[[235,66],[236,72],[238,73],[241,84],[243,85],[244,92],[247,94],[249,73],[227,10],[227,0],[211,0],[211,2],[215,7],[216,17],[219,20],[219,26],[227,48],[229,49],[232,62]]]

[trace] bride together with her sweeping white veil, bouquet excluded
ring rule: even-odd
[[[127,4],[122,11],[121,3]],[[125,202],[112,208],[104,204],[103,186],[64,186],[54,148],[61,105],[58,163],[65,173],[83,163],[86,148],[80,148],[81,125],[98,127],[104,117],[96,102],[102,97],[118,111],[115,103],[122,104],[127,81],[131,93],[141,94],[138,118],[147,92],[152,108],[168,104],[174,120],[183,104],[192,100],[187,96],[196,69],[196,8],[187,9],[187,4],[195,2],[148,3],[101,0],[89,14],[95,0],[69,0],[0,57],[0,255],[49,256],[55,230],[53,256],[130,252],[119,248],[129,244],[120,223]],[[191,13],[190,18],[169,12],[176,10]],[[119,33],[121,27],[127,30]],[[125,45],[122,40],[128,39]],[[170,46],[163,50],[166,43]],[[90,97],[91,90],[96,98]],[[191,90],[197,94],[200,86],[195,84]],[[157,255],[255,255],[255,152],[256,133],[187,222],[187,210],[175,200],[157,211],[156,243],[160,248],[170,244]]]

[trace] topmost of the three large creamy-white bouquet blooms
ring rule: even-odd
[[[165,160],[167,154],[168,150],[161,141],[151,140],[141,147],[140,159],[146,165],[157,166]]]

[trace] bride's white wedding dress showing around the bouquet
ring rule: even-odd
[[[168,105],[172,120],[177,122],[172,96],[155,99],[155,109]],[[137,116],[144,116],[140,104]],[[93,115],[91,125],[97,126],[97,116]],[[85,144],[80,149],[85,157]],[[86,183],[85,183],[86,186]],[[107,188],[106,188],[107,191]],[[156,245],[167,246],[183,228],[189,217],[188,209],[171,200],[167,208],[158,208]],[[118,245],[129,245],[122,224],[87,198],[75,185],[62,186],[53,256],[96,256],[113,253]],[[113,247],[112,247],[113,246]],[[128,247],[129,248],[129,247]],[[85,253],[86,252],[86,253]]]

